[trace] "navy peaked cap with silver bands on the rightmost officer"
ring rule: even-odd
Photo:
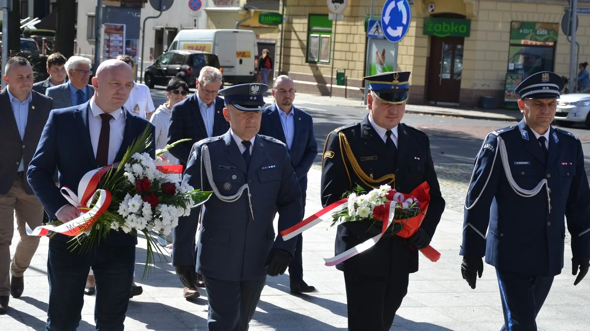
[[[514,89],[521,99],[556,99],[563,90],[563,80],[555,72],[542,71],[530,75]]]

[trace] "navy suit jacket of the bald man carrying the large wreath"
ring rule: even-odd
[[[76,107],[52,110],[41,134],[37,151],[29,164],[28,182],[51,219],[61,207],[69,204],[61,195],[60,188],[55,186],[55,168],[59,171],[59,186],[67,186],[74,190],[84,174],[97,168],[90,140],[89,112],[90,101]],[[123,111],[123,114],[126,118],[125,130],[115,162],[121,160],[127,147],[143,133],[146,126],[150,126],[153,137],[154,127],[148,120],[129,111]],[[148,153],[155,158],[153,144]],[[60,237],[67,240],[67,237],[62,235],[53,238]],[[104,241],[118,245],[137,243],[135,237],[114,230],[111,230]]]

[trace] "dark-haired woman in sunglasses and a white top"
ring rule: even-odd
[[[156,127],[154,134],[156,150],[161,150],[168,144],[168,127],[170,125],[170,114],[172,107],[178,102],[186,99],[188,95],[188,85],[185,81],[179,78],[172,78],[166,86],[166,102],[164,102],[154,112],[150,122]],[[169,164],[180,164],[178,159],[173,157],[170,152],[165,152],[162,157],[168,161]]]

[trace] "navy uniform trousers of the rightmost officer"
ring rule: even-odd
[[[496,268],[504,326],[501,331],[537,331],[535,319],[541,310],[553,276],[527,276]]]

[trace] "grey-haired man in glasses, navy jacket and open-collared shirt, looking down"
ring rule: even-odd
[[[219,69],[203,67],[199,72],[196,93],[172,107],[168,143],[185,138],[191,139],[170,150],[170,153],[178,158],[185,168],[192,145],[197,141],[222,135],[230,130],[230,123],[223,115],[224,100],[217,96],[222,80],[223,76]],[[200,294],[197,287],[205,287],[202,276],[195,272],[197,227],[198,223],[195,222],[186,224],[187,229],[177,227],[173,230],[173,237],[176,239],[182,237],[182,242],[192,243],[189,250],[172,247],[172,265],[184,285],[183,296],[186,299],[198,297]],[[185,236],[192,236],[192,238],[186,239]]]

